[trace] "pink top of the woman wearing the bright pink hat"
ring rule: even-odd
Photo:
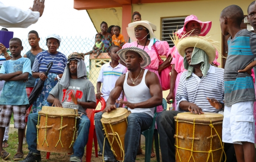
[[[183,59],[184,58],[179,54],[179,52],[178,52],[178,50],[177,50],[177,48],[175,46],[172,48],[172,51],[173,51],[172,52],[173,59],[172,59],[171,64],[175,64],[176,72],[177,73],[181,73],[181,72],[186,71],[186,69],[184,69],[184,64],[183,64]],[[215,59],[214,59],[213,63],[219,66],[220,63],[217,62],[217,58],[218,57],[219,57],[219,53],[216,50],[216,56],[215,56]]]

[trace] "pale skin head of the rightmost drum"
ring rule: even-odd
[[[177,114],[177,118],[179,119],[196,119],[196,120],[201,120],[201,121],[216,121],[216,120],[222,120],[223,115],[219,113],[214,113],[214,112],[204,112],[201,115],[191,113],[191,112],[182,112]]]

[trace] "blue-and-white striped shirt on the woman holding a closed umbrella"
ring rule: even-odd
[[[67,57],[61,52],[50,54],[47,50],[42,51],[35,57],[32,71],[40,73],[46,72],[49,62],[53,62],[53,66],[49,70],[49,73],[63,74],[67,64]]]

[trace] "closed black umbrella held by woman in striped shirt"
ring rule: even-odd
[[[48,75],[48,71],[51,69],[51,67],[53,66],[54,62],[50,62],[47,65],[47,71],[44,73],[45,76]],[[38,80],[38,82],[36,83],[36,85],[34,86],[32,92],[30,93],[29,97],[28,97],[28,102],[29,104],[27,105],[27,109],[34,103],[34,101],[38,98],[39,94],[42,93],[42,89],[44,86],[44,81],[42,81],[40,78]]]

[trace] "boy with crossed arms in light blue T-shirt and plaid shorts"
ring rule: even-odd
[[[0,80],[6,81],[0,96],[0,156],[6,160],[10,153],[2,148],[5,127],[10,123],[13,113],[14,128],[18,129],[19,146],[13,160],[23,159],[22,142],[25,131],[25,115],[28,98],[26,83],[32,75],[30,60],[20,55],[23,50],[21,40],[12,38],[9,42],[13,58],[2,64],[0,69]]]

